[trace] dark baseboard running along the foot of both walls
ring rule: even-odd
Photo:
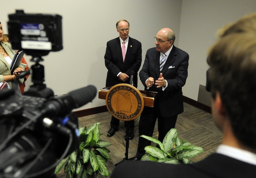
[[[192,105],[192,106],[195,106],[203,111],[206,111],[207,113],[212,113],[212,109],[211,107],[203,104],[203,103],[200,103],[196,100],[193,100],[193,99],[190,99],[186,96],[183,96],[183,101]],[[86,110],[80,110],[80,111],[75,111],[74,113],[76,114],[77,117],[82,117],[82,116],[88,116],[88,115],[91,115],[91,114],[98,114],[98,113],[103,113],[103,112],[106,112],[108,111],[107,109],[107,106],[99,106],[99,107],[96,107],[96,108],[89,108],[89,109],[86,109]]]

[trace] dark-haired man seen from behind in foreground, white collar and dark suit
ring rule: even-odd
[[[256,13],[221,30],[211,48],[208,89],[223,132],[217,153],[192,164],[125,161],[111,178],[241,178],[256,175]],[[132,170],[132,171],[131,171]]]

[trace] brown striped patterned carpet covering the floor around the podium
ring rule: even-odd
[[[139,117],[135,119],[135,137],[130,140],[130,146],[128,150],[128,158],[132,158],[136,155],[137,145],[139,140]],[[87,128],[96,122],[101,122],[99,125],[101,134],[107,133],[110,129],[111,114],[108,112],[93,114],[90,116],[79,117],[79,126],[87,126]],[[221,144],[222,133],[216,128],[212,114],[209,114],[203,110],[200,110],[192,105],[184,102],[184,112],[178,115],[175,128],[178,131],[178,137],[185,141],[190,142],[192,145],[201,146],[204,152],[192,158],[192,161],[199,161],[209,154],[216,151],[216,148]],[[157,138],[157,123],[155,124],[155,130],[153,137]],[[107,161],[107,167],[110,173],[113,171],[115,164],[125,158],[125,135],[124,122],[120,121],[119,131],[115,133],[113,137],[107,137],[106,134],[101,135],[101,139],[112,143],[113,145],[107,147],[110,150],[111,160]],[[124,144],[123,144],[124,143]],[[64,173],[59,173],[58,178],[64,178]],[[104,178],[102,175],[98,175],[98,178]]]

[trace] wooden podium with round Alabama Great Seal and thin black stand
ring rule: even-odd
[[[99,99],[106,100],[108,111],[116,119],[130,121],[140,116],[144,106],[154,107],[156,94],[157,92],[153,91],[138,90],[130,84],[117,84],[113,87],[105,87],[99,90]],[[123,161],[128,160],[128,128],[126,129],[125,140],[126,149]]]

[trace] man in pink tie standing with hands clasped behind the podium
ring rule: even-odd
[[[119,37],[107,42],[105,53],[105,66],[108,69],[106,87],[112,87],[120,83],[130,83],[131,72],[134,71],[134,87],[137,87],[137,72],[142,61],[141,43],[128,36],[130,23],[127,20],[119,20],[116,23]],[[112,137],[118,131],[119,120],[112,116],[111,128],[108,137]],[[134,138],[134,120],[125,122],[128,128],[129,139]]]

